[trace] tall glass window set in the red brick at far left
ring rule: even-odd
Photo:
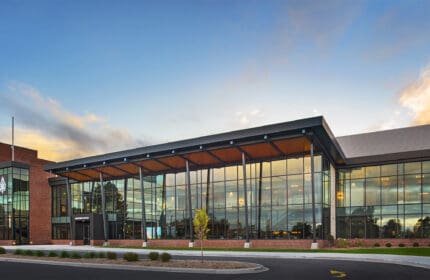
[[[29,171],[0,169],[0,239],[29,242]]]

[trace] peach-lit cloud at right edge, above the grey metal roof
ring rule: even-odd
[[[413,113],[414,124],[430,124],[430,64],[401,92],[399,102]]]

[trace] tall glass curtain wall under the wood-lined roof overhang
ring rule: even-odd
[[[206,208],[209,238],[245,238],[245,195],[251,238],[318,238],[329,233],[329,168],[321,155],[315,160],[316,225],[312,228],[310,156],[249,163],[247,193],[242,165],[190,172],[192,211]],[[142,193],[139,178],[105,182],[110,239],[141,238]],[[149,239],[190,237],[186,173],[144,177],[146,228]],[[71,184],[74,214],[101,213],[99,182]],[[69,238],[67,193],[52,187],[53,238]],[[64,218],[66,217],[66,218]]]

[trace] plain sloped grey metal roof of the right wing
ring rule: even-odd
[[[430,125],[337,137],[346,164],[430,157]]]

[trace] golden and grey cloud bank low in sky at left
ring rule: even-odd
[[[125,129],[111,127],[103,117],[68,111],[31,86],[14,82],[8,88],[2,98],[16,119],[16,144],[38,150],[42,158],[61,161],[143,145]],[[5,138],[0,140],[9,142]]]

